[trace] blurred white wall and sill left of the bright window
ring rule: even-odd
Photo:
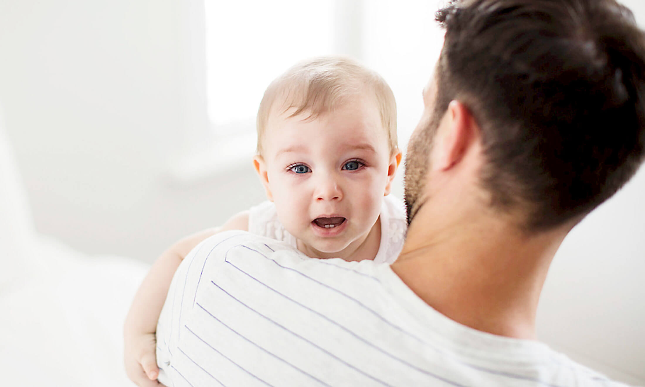
[[[190,130],[186,3],[0,2],[0,101],[40,232],[152,261],[262,199],[250,161],[198,186],[167,178]]]

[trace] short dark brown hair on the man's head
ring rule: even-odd
[[[435,110],[452,99],[482,130],[481,183],[522,226],[579,221],[638,170],[645,35],[613,0],[464,0],[446,38]],[[518,207],[519,205],[519,207]]]

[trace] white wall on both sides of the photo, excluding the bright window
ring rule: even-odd
[[[0,101],[40,232],[152,261],[263,199],[250,162],[200,183],[168,179],[169,160],[201,122],[183,60],[190,3],[0,1]],[[645,15],[638,0],[626,3]],[[640,383],[644,192],[641,170],[571,233],[539,311],[542,339]]]

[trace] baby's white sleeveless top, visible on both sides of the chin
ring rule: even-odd
[[[393,263],[403,247],[407,228],[405,206],[392,195],[383,197],[381,204],[381,245],[374,257],[375,263]],[[296,239],[278,220],[275,204],[263,202],[249,209],[248,232],[278,241],[284,241],[297,248]]]

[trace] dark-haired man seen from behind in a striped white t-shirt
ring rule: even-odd
[[[562,239],[645,154],[645,37],[613,0],[464,0],[408,147],[392,266],[207,239],[157,330],[174,386],[606,386],[535,341]]]

